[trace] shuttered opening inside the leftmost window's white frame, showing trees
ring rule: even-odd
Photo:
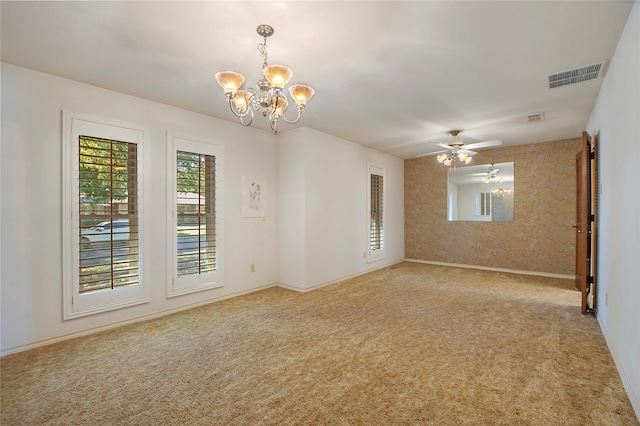
[[[79,293],[139,285],[135,143],[78,138]]]

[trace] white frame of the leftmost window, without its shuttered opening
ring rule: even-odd
[[[65,320],[111,311],[149,302],[149,288],[145,283],[148,262],[145,244],[145,196],[148,193],[148,164],[146,147],[150,131],[140,124],[96,117],[73,111],[63,111],[62,155],[62,258],[63,258],[63,318]],[[93,136],[131,142],[138,145],[138,217],[139,228],[139,285],[95,293],[80,294],[79,269],[79,194],[78,194],[78,138]]]

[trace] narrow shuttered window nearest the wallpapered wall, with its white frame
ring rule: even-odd
[[[368,255],[367,262],[385,257],[384,242],[384,169],[369,166],[368,172]]]

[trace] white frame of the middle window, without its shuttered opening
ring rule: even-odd
[[[178,151],[216,157],[216,256],[217,271],[201,275],[178,277],[176,260],[177,203],[176,155]],[[224,285],[224,145],[212,139],[167,132],[167,298]]]

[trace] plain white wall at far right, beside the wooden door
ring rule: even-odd
[[[640,3],[618,43],[587,131],[599,147],[597,317],[640,418]],[[588,350],[586,342],[585,350]]]

